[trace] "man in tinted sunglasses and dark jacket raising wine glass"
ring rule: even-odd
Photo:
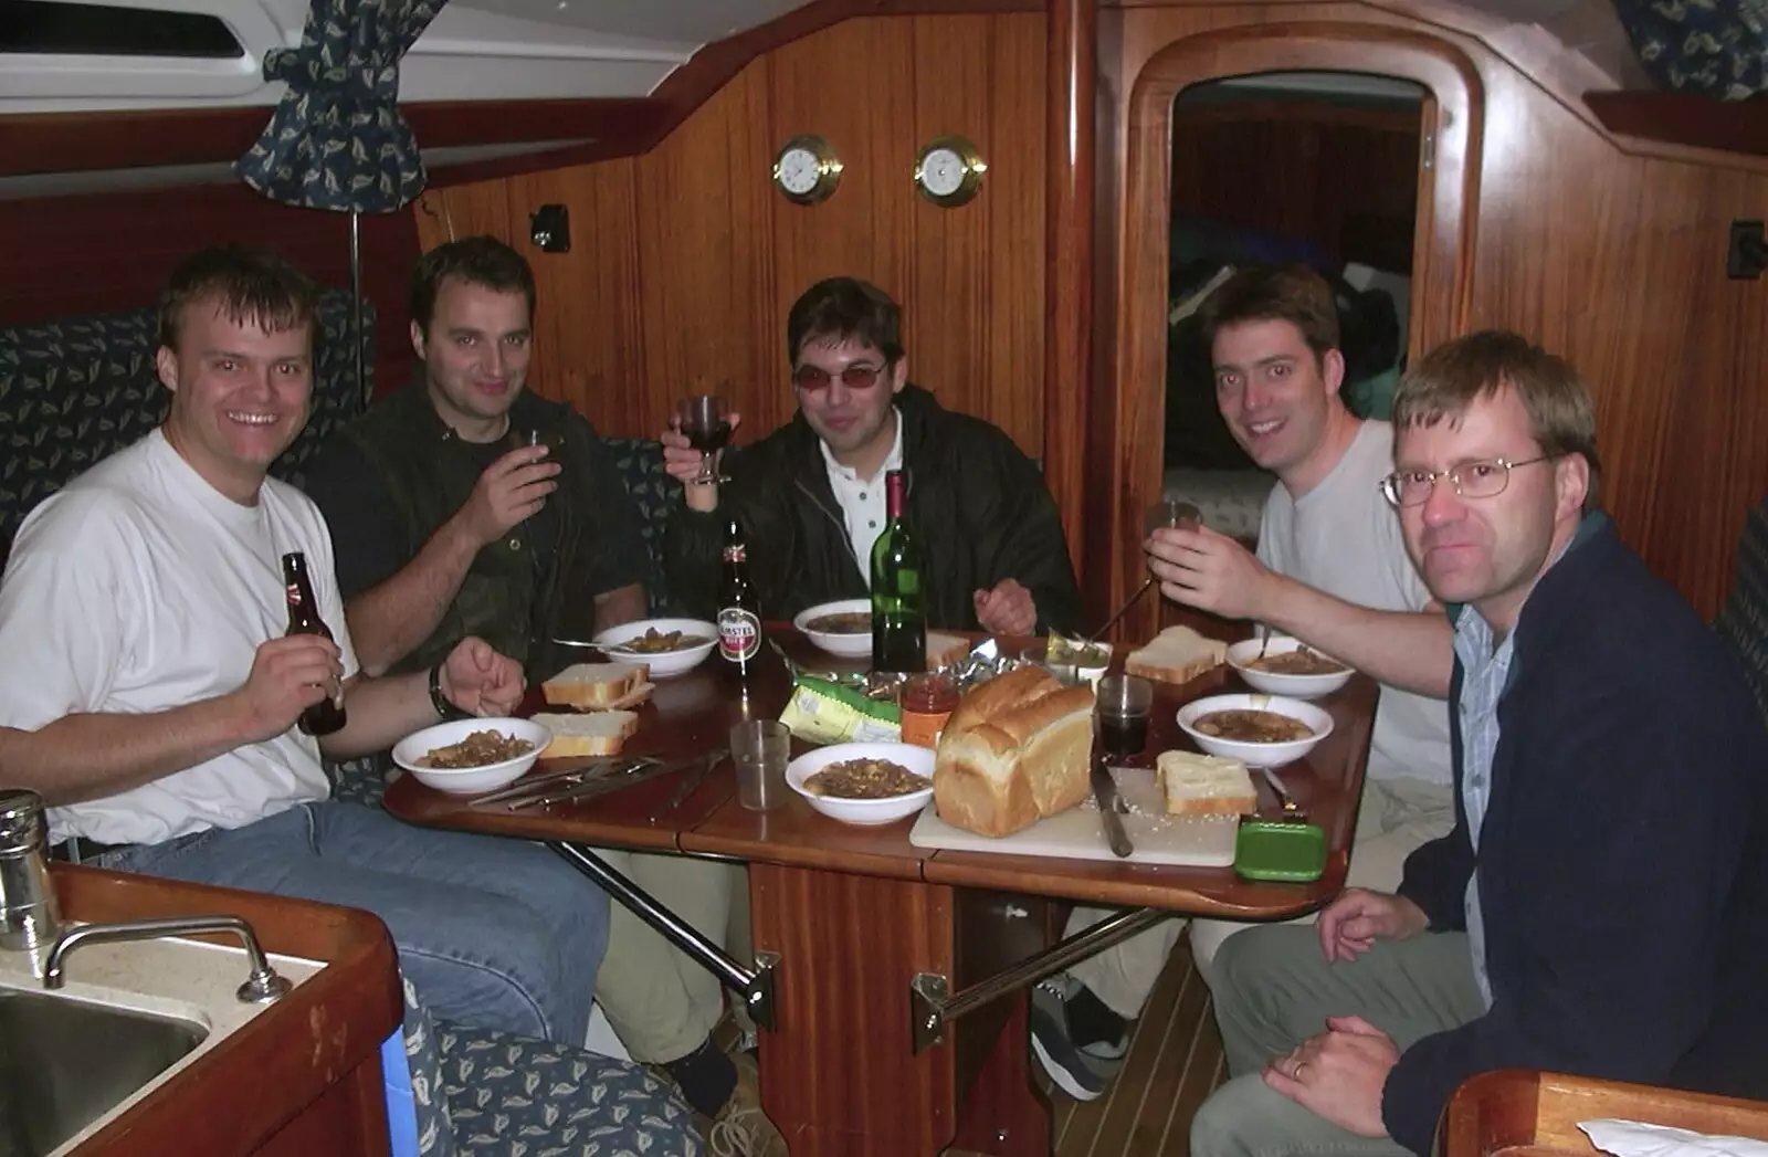
[[[698,451],[679,430],[663,433],[668,471],[688,487],[668,527],[665,570],[691,614],[716,612],[732,515],[764,616],[865,598],[872,543],[886,522],[884,472],[905,469],[928,626],[1008,635],[1080,626],[1043,476],[999,428],[909,384],[895,301],[854,278],[819,281],[792,306],[787,349],[797,414],[730,453],[723,488],[695,481]]]

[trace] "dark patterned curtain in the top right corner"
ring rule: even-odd
[[[1768,90],[1768,0],[1614,0],[1660,88],[1720,101]]]

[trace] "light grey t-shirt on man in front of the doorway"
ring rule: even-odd
[[[1259,524],[1259,559],[1347,603],[1423,610],[1430,591],[1406,554],[1398,513],[1381,494],[1390,472],[1393,426],[1365,421],[1331,474],[1299,502],[1276,483]],[[1452,784],[1448,704],[1383,685],[1368,777]]]

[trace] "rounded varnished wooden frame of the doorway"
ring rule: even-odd
[[[1434,120],[1427,127],[1436,140],[1432,168],[1418,173],[1409,349],[1416,356],[1466,326],[1485,101],[1478,71],[1460,50],[1406,28],[1294,21],[1216,28],[1149,57],[1128,101],[1114,432],[1123,451],[1105,464],[1117,508],[1114,545],[1101,563],[1114,568],[1112,603],[1144,578],[1132,545],[1163,485],[1172,101],[1200,81],[1285,69],[1379,73],[1430,90],[1423,115]],[[1124,616],[1126,637],[1151,637],[1158,612],[1160,601],[1144,598]]]

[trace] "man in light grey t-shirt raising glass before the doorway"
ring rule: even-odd
[[[1208,527],[1156,531],[1149,568],[1167,598],[1296,635],[1381,681],[1349,885],[1391,892],[1406,856],[1455,823],[1444,704],[1453,635],[1381,495],[1393,428],[1344,407],[1338,317],[1314,271],[1246,269],[1204,303],[1202,326],[1222,418],[1278,481],[1257,554]],[[1075,909],[1068,932],[1103,915]],[[1140,1014],[1183,927],[1167,920],[1036,992],[1033,1044],[1063,1088],[1103,1090],[1126,1021]],[[1222,941],[1245,927],[1192,922],[1206,978]]]

